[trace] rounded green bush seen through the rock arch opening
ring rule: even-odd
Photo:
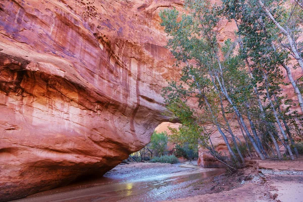
[[[157,133],[154,132],[150,138],[150,148],[154,149],[156,156],[164,155],[168,142],[168,137],[166,132]]]

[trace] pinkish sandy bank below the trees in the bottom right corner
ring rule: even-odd
[[[257,160],[250,163],[250,168],[236,174],[217,177],[221,178],[221,183],[217,182],[213,193],[170,201],[303,201],[303,157],[294,161]],[[241,178],[243,180],[237,184]]]

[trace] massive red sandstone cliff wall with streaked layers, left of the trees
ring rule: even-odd
[[[159,25],[179,1],[0,2],[0,200],[104,174],[169,117]]]

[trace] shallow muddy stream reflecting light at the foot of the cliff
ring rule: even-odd
[[[161,201],[186,197],[195,183],[212,180],[213,176],[225,172],[224,169],[191,167],[137,166],[135,170],[129,166],[118,167],[105,177],[37,193],[16,201]]]

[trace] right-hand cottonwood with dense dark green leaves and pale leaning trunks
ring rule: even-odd
[[[288,61],[290,60],[288,52],[285,52],[285,49],[278,49],[276,48],[275,40],[277,39],[276,34],[276,25],[274,22],[271,21],[271,19],[266,19],[267,13],[263,11],[263,7],[259,7],[259,1],[223,1],[223,10],[224,14],[228,19],[233,19],[236,21],[236,24],[238,25],[238,34],[241,39],[240,48],[242,51],[242,55],[245,58],[247,67],[250,71],[251,66],[254,66],[253,68],[259,69],[259,74],[254,75],[250,71],[250,75],[252,78],[254,78],[258,84],[260,85],[262,82],[264,82],[263,90],[267,91],[265,93],[265,97],[268,98],[268,102],[271,105],[272,114],[276,120],[276,123],[278,125],[279,130],[281,131],[284,141],[283,145],[287,147],[287,150],[289,151],[289,154],[291,158],[293,159],[291,155],[291,149],[288,144],[288,139],[286,138],[286,134],[288,134],[289,139],[291,140],[291,144],[294,147],[295,154],[297,156],[297,150],[294,146],[294,141],[291,136],[289,126],[287,125],[285,118],[286,112],[284,112],[284,115],[282,115],[281,111],[281,102],[278,102],[278,94],[281,92],[280,84],[284,84],[282,81],[284,79],[279,67],[282,66],[285,68],[288,78],[290,82],[292,83],[295,93],[298,97],[298,103],[302,109],[302,97],[300,94],[300,91],[298,89],[298,86],[292,79],[290,68],[288,67]],[[275,14],[281,14],[283,12],[282,7],[276,6],[278,9],[275,11]],[[279,10],[280,9],[280,10]],[[244,45],[243,45],[244,44]],[[252,62],[252,64],[248,63],[247,58]],[[271,79],[268,79],[268,75],[271,75]],[[272,81],[272,83],[269,83],[268,81]],[[269,92],[269,88],[275,89],[271,90]],[[260,87],[259,87],[260,90]],[[277,145],[277,142],[275,140],[276,137],[273,136],[273,133],[271,129],[273,129],[272,126],[270,126],[269,121],[266,120],[265,112],[263,109],[263,104],[261,103],[260,94],[261,92],[258,92],[257,86],[255,87],[255,94],[258,98],[259,108],[262,115],[263,121],[266,123],[266,128],[268,133],[271,136],[271,139],[275,145],[277,155],[279,159],[281,159],[281,154],[279,151],[279,147]],[[273,100],[272,100],[273,99]],[[280,98],[279,100],[282,100]],[[275,103],[275,106],[274,106]],[[283,103],[284,104],[284,103]],[[289,103],[288,103],[289,104]],[[289,109],[289,107],[288,107]],[[287,111],[287,113],[290,113]],[[289,117],[289,116],[287,116]],[[294,117],[292,117],[293,119]],[[280,124],[280,120],[283,121],[285,129]],[[293,121],[292,121],[293,123]],[[286,131],[286,132],[285,132]]]

